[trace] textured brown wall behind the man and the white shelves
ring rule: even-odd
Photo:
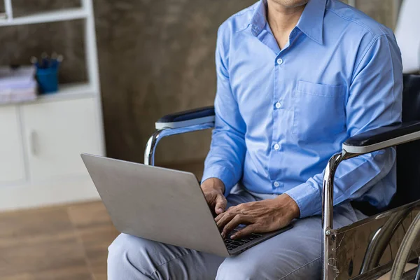
[[[213,104],[218,26],[256,0],[95,0],[106,148],[142,162],[160,116]],[[2,1],[0,1],[2,2]],[[392,0],[358,0],[358,8],[392,27]],[[78,6],[78,0],[13,0],[15,14]],[[0,7],[1,9],[1,7]],[[62,82],[85,80],[83,22],[0,27],[0,64],[31,55],[65,56]],[[210,132],[162,140],[158,162],[201,160]]]

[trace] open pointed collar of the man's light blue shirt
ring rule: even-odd
[[[317,43],[323,43],[323,18],[327,0],[309,0],[297,28]],[[251,18],[252,34],[257,36],[267,23],[267,0],[260,0]]]

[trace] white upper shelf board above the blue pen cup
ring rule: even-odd
[[[79,20],[87,18],[88,13],[84,8],[68,8],[62,10],[36,13],[18,18],[10,18],[7,14],[4,19],[0,19],[1,26],[13,25],[33,25],[43,22],[62,22],[66,20]]]

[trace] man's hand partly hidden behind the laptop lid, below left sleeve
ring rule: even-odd
[[[228,202],[225,195],[225,184],[217,178],[209,178],[201,186],[209,207],[216,215],[222,214]]]

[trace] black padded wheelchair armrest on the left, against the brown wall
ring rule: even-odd
[[[190,127],[193,125],[202,125],[204,123],[211,122],[214,122],[214,106],[202,107],[199,109],[163,116],[155,123],[155,127],[156,130],[162,130],[165,128]]]

